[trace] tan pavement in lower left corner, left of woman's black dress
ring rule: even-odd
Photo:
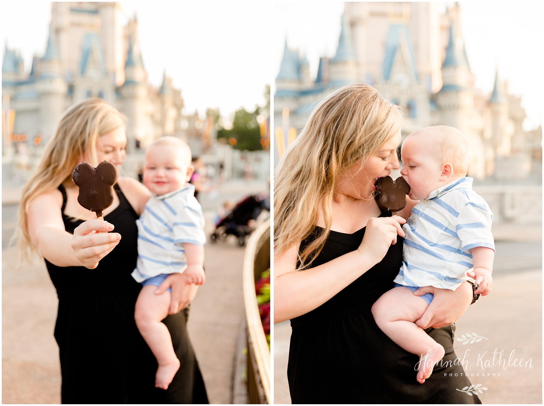
[[[2,250],[2,403],[59,403],[57,293],[45,263],[17,267]]]

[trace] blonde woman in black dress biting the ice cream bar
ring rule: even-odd
[[[287,375],[293,403],[480,403],[452,346],[472,287],[434,293],[425,331],[446,349],[417,383],[417,355],[376,326],[370,308],[393,288],[402,224],[374,199],[375,181],[400,167],[397,106],[368,85],[328,95],[313,111],[274,179],[274,322],[293,329]],[[455,365],[454,365],[455,364]]]

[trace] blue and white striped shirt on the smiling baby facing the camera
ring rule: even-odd
[[[153,196],[138,225],[138,260],[132,277],[137,282],[161,273],[182,273],[187,268],[183,243],[203,246],[204,216],[194,197],[195,186]]]

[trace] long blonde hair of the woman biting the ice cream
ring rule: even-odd
[[[399,107],[366,84],[339,88],[318,104],[275,171],[275,258],[313,233],[322,216],[325,229],[298,254],[298,270],[310,266],[329,235],[339,175],[378,152],[402,124]]]

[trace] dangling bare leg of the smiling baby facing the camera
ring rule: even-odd
[[[134,320],[159,364],[155,375],[155,386],[167,389],[180,368],[180,360],[177,359],[172,347],[168,328],[160,322],[168,316],[171,293],[165,291],[161,295],[155,295],[156,290],[157,286],[154,285],[141,288],[134,310]]]

